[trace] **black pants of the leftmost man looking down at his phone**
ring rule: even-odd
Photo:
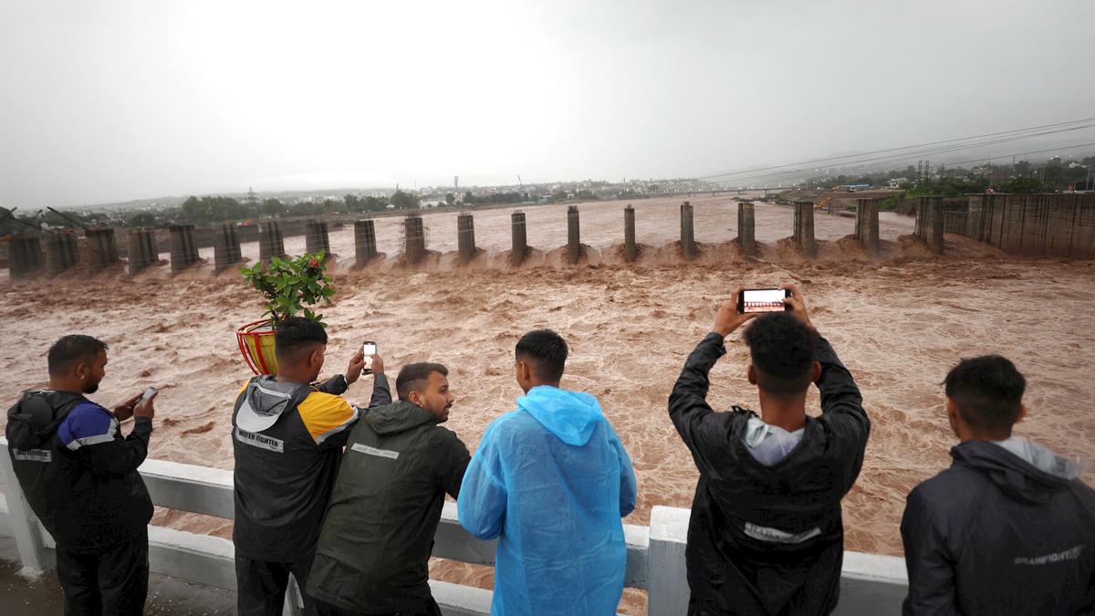
[[[95,551],[57,546],[57,579],[67,616],[127,616],[145,612],[148,596],[148,531]]]

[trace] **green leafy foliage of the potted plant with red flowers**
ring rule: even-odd
[[[331,297],[335,288],[331,276],[324,275],[324,251],[301,254],[290,259],[270,259],[269,265],[256,263],[253,267],[240,267],[244,281],[254,286],[266,298],[266,312],[274,324],[303,312],[323,327],[323,315],[313,312],[310,306],[323,303],[332,306]]]

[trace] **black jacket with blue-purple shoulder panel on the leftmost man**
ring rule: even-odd
[[[152,501],[137,467],[152,420],[137,418],[123,437],[113,413],[79,393],[27,391],[5,432],[20,487],[62,549],[94,552],[145,532]]]

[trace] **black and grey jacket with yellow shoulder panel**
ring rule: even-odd
[[[232,413],[235,523],[241,558],[273,562],[311,560],[338,457],[359,409],[339,395],[338,375],[318,387],[252,378]],[[377,375],[371,404],[391,401]]]

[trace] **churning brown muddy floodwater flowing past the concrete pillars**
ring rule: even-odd
[[[690,199],[695,206],[695,262],[680,258],[681,199],[636,202],[642,248],[635,264],[620,259],[623,203],[580,205],[578,266],[562,263],[565,206],[530,206],[529,262],[505,265],[511,208],[475,212],[483,249],[468,267],[454,265],[456,214],[427,214],[427,248],[417,269],[396,264],[401,218],[377,221],[387,259],[350,266],[351,226],[333,228],[336,305],[323,310],[331,342],[326,376],[345,369],[362,340],[376,340],[389,374],[420,361],[450,369],[457,395],[448,427],[474,449],[491,420],[520,395],[512,376],[518,338],[552,328],[569,342],[563,386],[597,396],[631,454],[638,505],[625,520],[646,524],[650,507],[687,507],[696,471],[667,417],[666,401],[684,357],[710,330],[715,310],[741,286],[795,283],[811,318],[852,370],[872,419],[863,472],[844,500],[845,546],[900,555],[898,524],[904,498],[919,481],[949,464],[955,438],[947,425],[941,381],[960,357],[1000,353],[1028,381],[1027,419],[1016,433],[1056,452],[1095,457],[1095,261],[1017,259],[966,238],[947,236],[947,255],[927,254],[908,236],[912,218],[884,213],[883,256],[868,260],[852,233],[854,220],[818,214],[818,259],[807,261],[784,238],[789,207],[758,204],[760,261],[741,258],[737,210],[729,197]],[[287,238],[290,253],[303,238]],[[257,258],[257,244],[243,246]],[[146,386],[160,388],[150,457],[232,467],[232,402],[251,375],[237,347],[237,327],[257,320],[261,300],[234,272],[209,263],[170,276],[165,263],[129,278],[123,266],[94,277],[0,280],[0,398],[45,384],[45,352],[58,336],[88,333],[110,346],[107,376],[96,401],[112,406]],[[166,255],[164,255],[166,259]],[[746,380],[748,351],[740,332],[712,373],[716,409],[759,411]],[[367,402],[371,379],[347,398]],[[816,391],[808,400],[817,412]],[[1091,467],[1083,478],[1095,482]],[[231,523],[160,510],[153,521],[230,537]],[[489,570],[437,566],[435,575],[489,584]],[[629,592],[624,606],[638,609]]]

